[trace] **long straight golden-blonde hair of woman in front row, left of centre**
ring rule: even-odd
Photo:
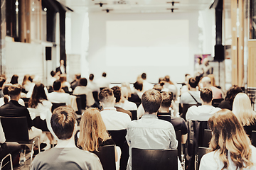
[[[78,146],[87,151],[98,151],[99,142],[110,139],[106,126],[97,108],[88,108],[80,122]]]

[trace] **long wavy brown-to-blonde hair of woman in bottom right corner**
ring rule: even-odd
[[[234,113],[228,109],[216,112],[208,120],[213,137],[210,140],[210,150],[220,154],[220,161],[223,162],[222,169],[228,169],[231,162],[228,161],[228,152],[236,169],[251,167],[252,151],[250,139]],[[249,168],[250,169],[250,168]]]

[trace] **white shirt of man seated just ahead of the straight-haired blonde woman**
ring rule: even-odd
[[[100,115],[107,130],[127,129],[128,124],[131,122],[131,118],[127,113],[118,112],[116,108],[104,108]]]

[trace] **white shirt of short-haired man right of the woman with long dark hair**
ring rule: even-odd
[[[53,91],[47,95],[47,98],[51,103],[66,103],[66,105],[70,105],[70,95],[63,92]]]

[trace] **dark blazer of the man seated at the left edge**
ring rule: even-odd
[[[9,101],[9,103],[4,104],[0,107],[0,116],[6,117],[22,117],[26,116],[28,129],[32,127],[31,116],[28,109],[25,106],[21,106],[18,101]]]

